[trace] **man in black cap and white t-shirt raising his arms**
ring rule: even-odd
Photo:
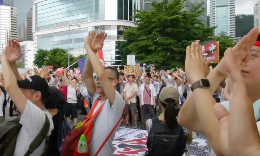
[[[17,136],[14,156],[22,156],[27,153],[29,145],[43,127],[45,114],[47,114],[50,123],[48,135],[51,134],[54,127],[52,116],[44,107],[44,102],[48,100],[50,94],[48,83],[45,79],[36,75],[21,80],[16,67],[16,61],[19,60],[21,55],[19,42],[14,40],[9,41],[1,55],[6,92],[21,113],[19,123],[22,128]],[[30,156],[41,155],[44,147],[45,140]]]

